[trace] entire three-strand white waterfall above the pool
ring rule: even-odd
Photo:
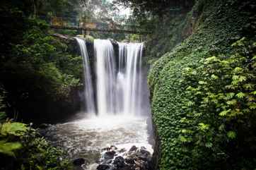
[[[85,41],[79,38],[76,41],[83,56],[86,113],[100,117],[140,115],[144,44],[118,43],[119,54],[115,54],[110,40],[94,40],[93,66],[90,66]],[[95,73],[95,78],[91,73]]]

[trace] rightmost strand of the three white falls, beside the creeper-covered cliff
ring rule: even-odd
[[[142,43],[119,43],[119,68],[117,86],[121,88],[120,107],[122,114],[141,112],[141,56]]]

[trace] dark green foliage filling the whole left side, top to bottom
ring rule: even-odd
[[[65,152],[32,124],[13,120],[59,121],[80,109],[83,69],[76,42],[54,35],[37,18],[76,14],[70,2],[1,1],[0,169],[69,169]]]

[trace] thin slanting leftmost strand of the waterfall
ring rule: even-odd
[[[85,107],[86,112],[89,115],[95,114],[95,99],[93,96],[93,83],[91,78],[91,67],[89,63],[89,56],[88,51],[86,48],[86,42],[84,40],[81,40],[77,37],[75,37],[76,42],[79,45],[81,56],[83,57],[83,83],[84,83],[84,100],[85,100]]]

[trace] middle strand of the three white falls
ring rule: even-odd
[[[115,114],[115,55],[110,40],[94,40],[98,116]]]

